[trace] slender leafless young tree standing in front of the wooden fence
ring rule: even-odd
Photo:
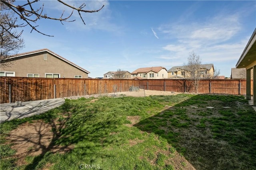
[[[187,73],[186,77],[193,80],[196,93],[198,93],[199,80],[202,78],[202,74],[199,72],[199,69],[202,68],[200,56],[194,53],[194,51],[190,52],[184,68]]]

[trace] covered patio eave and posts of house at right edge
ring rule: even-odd
[[[246,68],[246,99],[251,100],[251,70],[253,80],[253,106],[256,106],[256,29],[252,33],[236,68]]]

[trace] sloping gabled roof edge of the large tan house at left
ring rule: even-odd
[[[30,52],[26,52],[26,53],[20,53],[20,54],[14,55],[13,57],[10,57],[9,59],[15,59],[15,58],[18,58],[18,57],[23,57],[23,56],[26,56],[26,55],[32,55],[32,54],[36,54],[36,53],[42,53],[42,52],[45,52],[45,51],[48,52],[48,53],[50,53],[50,54],[52,54],[52,55],[54,55],[55,57],[61,59],[62,61],[65,61],[66,63],[68,63],[68,64],[70,64],[70,65],[72,65],[72,66],[78,68],[79,70],[82,70],[82,71],[86,72],[87,74],[90,73],[89,71],[85,70],[84,68],[82,68],[82,67],[76,65],[75,63],[72,63],[71,61],[69,61],[69,60],[67,60],[67,59],[65,59],[65,58],[63,58],[63,57],[61,57],[60,55],[58,55],[58,54],[56,54],[56,53],[50,51],[49,49],[40,49],[40,50],[36,50],[36,51],[30,51]]]

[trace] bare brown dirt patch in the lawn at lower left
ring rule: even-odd
[[[46,152],[65,153],[74,148],[70,146],[54,145],[60,138],[59,129],[64,128],[64,123],[54,119],[51,123],[42,120],[26,122],[9,133],[8,143],[16,150],[14,157],[18,158],[18,165],[26,164],[26,156],[43,155]]]

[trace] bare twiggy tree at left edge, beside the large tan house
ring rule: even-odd
[[[14,17],[14,12],[8,10],[8,7],[2,4],[0,7],[0,60],[1,67],[7,67],[13,64],[10,61],[12,55],[16,55],[20,49],[24,47],[24,41],[22,38],[22,31],[17,32],[15,25],[17,18]],[[8,62],[5,62],[7,61]]]

